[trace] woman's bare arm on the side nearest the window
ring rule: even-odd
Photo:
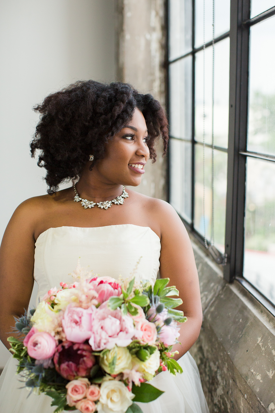
[[[171,205],[160,201],[157,208],[161,231],[160,276],[170,278],[169,285],[175,285],[183,304],[182,310],[188,318],[181,324],[181,344],[173,351],[179,351],[180,358],[193,346],[202,325],[202,305],[197,268],[190,239],[181,219]]]

